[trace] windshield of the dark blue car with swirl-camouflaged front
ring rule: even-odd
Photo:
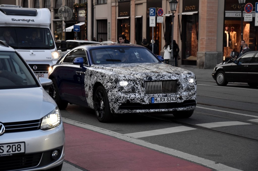
[[[157,57],[145,48],[111,47],[90,51],[94,64],[114,63],[158,63]]]

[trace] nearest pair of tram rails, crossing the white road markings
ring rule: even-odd
[[[200,113],[200,112],[195,112],[195,113]],[[204,114],[204,113],[201,113],[201,114]],[[209,115],[209,114],[207,114],[207,115]],[[180,122],[180,121],[176,121],[176,120],[164,119],[164,118],[159,117],[159,116],[151,116],[151,115],[144,115],[144,116],[150,117],[150,118],[159,119],[159,120],[164,120],[164,121],[168,121],[168,122],[172,122],[172,123],[179,124],[179,125],[182,125],[182,126],[187,126],[187,127],[191,127],[191,128],[199,128],[199,129],[203,129],[203,130],[207,130],[207,131],[211,131],[211,132],[217,132],[217,133],[220,133],[220,134],[225,134],[225,135],[229,135],[229,136],[233,136],[233,137],[239,137],[239,138],[244,138],[244,139],[248,139],[248,140],[252,140],[252,141],[258,142],[258,139],[255,139],[255,138],[249,138],[249,137],[245,137],[245,136],[240,136],[240,135],[236,135],[236,134],[231,134],[231,133],[228,133],[228,132],[223,132],[223,131],[219,131],[219,130],[214,130],[214,129],[210,129],[210,128],[205,128],[205,127],[198,126],[198,125],[187,124],[187,123]],[[217,117],[219,117],[219,116],[217,116]],[[226,117],[225,117],[225,118],[226,118]],[[232,119],[232,118],[228,118],[228,119]],[[234,119],[234,120],[236,120],[236,119]],[[251,122],[251,121],[250,121],[250,122],[248,122],[248,121],[241,121],[241,122],[251,123],[251,124],[256,124],[256,125],[258,125],[257,123]]]

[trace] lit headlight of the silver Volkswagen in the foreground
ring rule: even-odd
[[[61,115],[58,107],[42,118],[42,130],[47,130],[58,126],[61,123]]]

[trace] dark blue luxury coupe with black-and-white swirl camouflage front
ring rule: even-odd
[[[50,67],[49,93],[59,109],[89,107],[100,122],[123,113],[188,118],[196,108],[195,74],[162,61],[140,45],[78,46]]]

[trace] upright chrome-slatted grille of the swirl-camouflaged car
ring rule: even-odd
[[[146,94],[167,94],[176,93],[177,80],[145,81]]]

